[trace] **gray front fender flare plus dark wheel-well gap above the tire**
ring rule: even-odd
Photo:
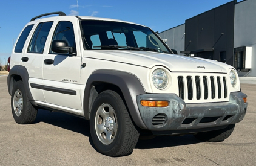
[[[136,101],[136,96],[145,94],[146,91],[136,75],[123,71],[99,69],[89,76],[86,82],[86,88],[84,89],[84,118],[90,120],[93,101],[95,101],[100,92],[107,89],[117,92],[126,104],[128,112],[135,124],[142,129],[147,129],[141,119]]]

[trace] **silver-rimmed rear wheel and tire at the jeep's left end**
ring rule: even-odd
[[[13,86],[11,106],[16,123],[30,124],[35,121],[38,111],[30,103],[22,81],[17,81]]]

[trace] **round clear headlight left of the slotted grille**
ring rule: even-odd
[[[152,82],[157,89],[164,89],[168,85],[168,76],[163,69],[155,69],[152,73]]]

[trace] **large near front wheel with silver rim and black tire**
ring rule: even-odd
[[[101,92],[93,103],[90,133],[96,149],[112,157],[132,153],[139,138],[120,95],[110,90]]]

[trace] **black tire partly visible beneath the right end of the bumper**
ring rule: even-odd
[[[201,141],[222,142],[231,135],[234,129],[235,129],[235,124],[230,124],[225,129],[214,130],[211,132],[201,132],[201,133],[197,133],[194,136],[195,138]]]

